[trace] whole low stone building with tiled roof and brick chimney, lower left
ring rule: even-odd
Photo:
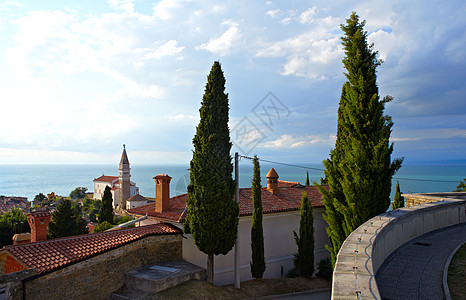
[[[27,217],[30,240],[0,250],[0,299],[108,299],[125,272],[182,256],[182,231],[171,224],[47,240],[50,212]]]

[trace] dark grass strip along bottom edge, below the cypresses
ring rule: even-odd
[[[247,299],[268,295],[302,292],[330,288],[331,283],[321,278],[306,279],[253,279],[241,283],[241,289],[233,285],[215,286],[206,281],[191,280],[174,288],[157,293],[158,299]]]

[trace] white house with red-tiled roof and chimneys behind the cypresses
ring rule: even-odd
[[[299,182],[278,180],[277,172],[272,168],[267,174],[267,187],[262,188],[264,252],[266,270],[264,278],[280,278],[294,266],[294,255],[298,252],[293,232],[299,232],[301,196],[306,193],[311,200],[314,215],[315,263],[329,256],[325,245],[330,244],[326,233],[327,223],[322,214],[325,207],[322,195],[314,186],[303,186]],[[167,174],[154,177],[156,184],[156,201],[129,209],[127,212],[135,217],[146,216],[140,226],[169,222],[182,228],[187,215],[187,194],[170,197],[170,180]],[[251,261],[251,223],[252,190],[239,190],[239,227],[240,276],[241,281],[252,279]],[[190,234],[183,239],[183,259],[206,268],[207,255],[200,252]],[[234,250],[227,255],[218,255],[214,263],[214,283],[231,284],[234,281]],[[317,269],[317,268],[316,268]]]

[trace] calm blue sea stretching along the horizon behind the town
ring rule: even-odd
[[[322,164],[306,164],[311,182],[319,182]],[[304,184],[306,169],[270,163],[261,164],[262,185],[267,184],[265,175],[273,167],[280,179]],[[188,165],[131,165],[131,181],[139,186],[140,193],[155,197],[153,177],[168,174],[172,177],[172,196],[186,192],[189,183]],[[250,187],[252,163],[240,161],[240,187]],[[32,200],[38,193],[68,196],[76,187],[93,190],[93,180],[102,174],[118,175],[118,165],[0,165],[0,195],[22,196]],[[452,191],[466,177],[466,165],[405,165],[395,175],[392,184],[392,199],[396,179],[403,193]]]

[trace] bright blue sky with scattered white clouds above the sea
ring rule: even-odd
[[[186,164],[219,61],[232,153],[319,163],[366,20],[392,158],[466,162],[465,1],[0,2],[0,164]]]

